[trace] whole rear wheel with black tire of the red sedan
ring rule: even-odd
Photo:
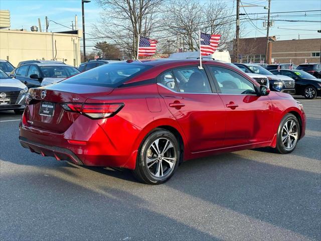
[[[169,131],[155,129],[142,141],[133,174],[140,182],[162,184],[175,173],[181,150],[177,138]]]

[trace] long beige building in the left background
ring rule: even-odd
[[[0,59],[14,66],[24,60],[57,60],[79,66],[81,35],[79,30],[46,33],[0,29]]]

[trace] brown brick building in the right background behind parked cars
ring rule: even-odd
[[[273,38],[273,37],[272,37]],[[243,63],[265,62],[265,37],[246,38],[239,41],[239,57]],[[289,63],[290,59],[296,65],[320,62],[321,39],[280,40],[271,43],[272,62]]]

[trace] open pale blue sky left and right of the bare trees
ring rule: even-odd
[[[210,1],[210,0],[204,0]],[[214,1],[214,0],[212,0]],[[236,13],[236,0],[218,0],[224,1],[228,8]],[[268,5],[267,0],[241,0],[244,6],[250,4],[258,5],[256,7],[240,8],[240,13],[245,11],[250,18],[257,19],[266,17],[266,15],[250,15],[253,13],[267,13],[263,6]],[[11,29],[27,29],[30,30],[32,25],[38,26],[38,18],[42,21],[44,29],[45,16],[49,20],[71,28],[71,21],[74,16],[78,16],[78,27],[81,28],[81,0],[1,0],[1,10],[10,10],[11,13]],[[272,0],[271,13],[288,12],[288,11],[309,11],[321,10],[320,0]],[[85,4],[86,32],[90,33],[92,24],[99,20],[100,8],[92,0],[91,3]],[[289,14],[273,14],[275,20],[294,20],[294,21],[321,21],[321,12],[305,13],[289,13]],[[247,16],[241,16],[247,18]],[[244,32],[242,37],[263,37],[266,30],[262,27],[262,20],[253,20],[243,24]],[[282,29],[280,29],[282,28]],[[275,21],[274,27],[270,29],[270,35],[275,35],[278,40],[321,38],[321,34],[317,30],[321,29],[321,23],[313,22],[285,22]],[[66,27],[50,22],[49,31],[66,31]],[[90,36],[87,36],[87,38]],[[86,42],[93,44],[93,42]]]

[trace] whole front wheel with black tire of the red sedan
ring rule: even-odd
[[[299,140],[300,125],[294,114],[288,113],[283,118],[277,131],[275,151],[280,154],[292,152]]]

